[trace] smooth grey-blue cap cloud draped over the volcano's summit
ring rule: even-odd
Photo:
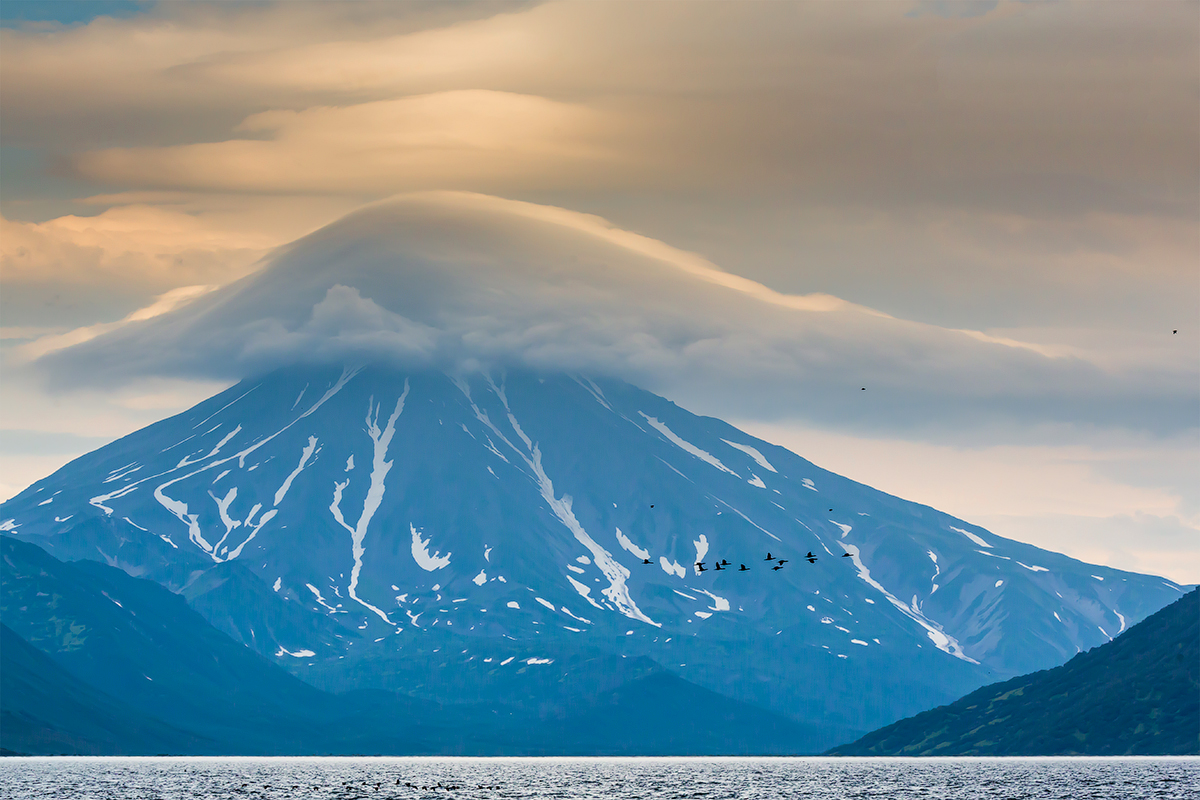
[[[1086,351],[785,295],[564,209],[455,192],[370,205],[260,272],[50,353],[60,385],[236,379],[298,360],[613,374],[707,408],[860,428],[1194,426],[1194,365]],[[864,391],[865,387],[865,391]]]

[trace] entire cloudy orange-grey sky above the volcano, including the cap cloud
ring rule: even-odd
[[[0,497],[367,351],[1200,582],[1196,2],[0,14]]]

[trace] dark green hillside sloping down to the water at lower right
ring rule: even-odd
[[[984,686],[832,753],[1200,754],[1200,590],[1062,667]]]

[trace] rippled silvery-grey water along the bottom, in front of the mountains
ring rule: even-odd
[[[0,799],[1200,796],[1200,758],[4,758]]]

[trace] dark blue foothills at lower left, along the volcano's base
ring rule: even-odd
[[[31,754],[809,753],[821,726],[703,690],[649,658],[536,702],[318,691],[121,570],[0,536],[0,747]]]

